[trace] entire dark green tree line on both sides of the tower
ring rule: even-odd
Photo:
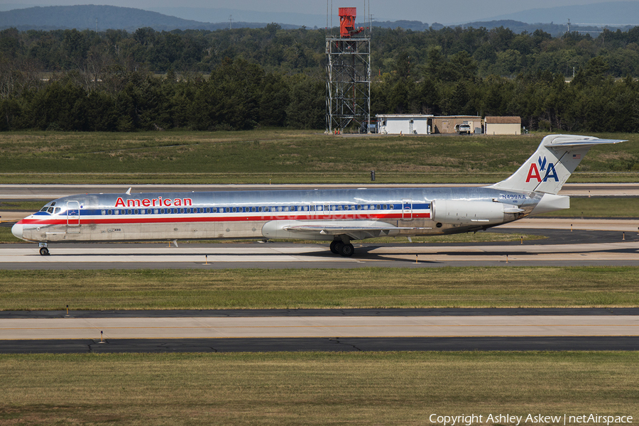
[[[277,24],[0,31],[0,130],[324,129],[324,36]],[[638,43],[639,27],[597,38],[375,28],[371,112],[515,115],[530,129],[637,131]]]

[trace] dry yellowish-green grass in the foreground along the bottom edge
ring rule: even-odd
[[[432,414],[499,413],[637,418],[638,362],[637,352],[2,355],[0,425],[429,425]]]

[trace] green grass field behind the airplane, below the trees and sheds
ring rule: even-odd
[[[5,183],[485,182],[539,145],[525,136],[330,136],[313,131],[0,133]],[[571,182],[636,182],[639,136],[597,146]]]

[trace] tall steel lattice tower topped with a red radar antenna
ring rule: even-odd
[[[371,122],[371,26],[355,28],[356,8],[339,8],[339,37],[326,37],[326,130]]]

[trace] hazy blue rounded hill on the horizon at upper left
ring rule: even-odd
[[[97,18],[97,24],[96,24]],[[26,30],[54,30],[76,28],[78,30],[120,29],[136,31],[138,28],[151,27],[156,31],[172,30],[219,30],[229,28],[226,17],[220,16],[220,23],[206,23],[166,16],[157,12],[143,11],[117,6],[47,6],[14,9],[0,12],[0,29],[18,28]],[[234,22],[236,27],[261,28],[266,23]],[[282,24],[283,28],[297,28]]]

